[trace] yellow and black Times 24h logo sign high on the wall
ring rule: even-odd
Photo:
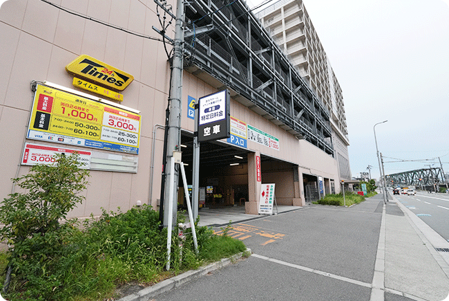
[[[86,80],[92,80],[97,84],[102,84],[118,91],[123,91],[134,80],[133,75],[88,55],[78,57],[66,66],[66,70],[84,77]]]

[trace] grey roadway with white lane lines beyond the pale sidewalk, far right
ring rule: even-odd
[[[396,195],[398,201],[449,241],[449,194]]]

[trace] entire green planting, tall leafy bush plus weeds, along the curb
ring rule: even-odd
[[[10,194],[0,207],[2,239],[8,250],[11,281],[8,300],[104,300],[115,297],[120,284],[153,284],[244,251],[245,245],[220,237],[207,227],[196,228],[198,254],[191,229],[185,239],[178,227],[171,235],[171,270],[167,261],[167,229],[159,230],[159,213],[151,206],[127,212],[106,212],[82,227],[76,220],[59,224],[84,198],[88,175],[79,170],[77,155],[59,156],[56,165],[36,165],[15,183],[26,192]],[[182,212],[178,223],[184,222]],[[198,225],[199,219],[195,224]],[[0,258],[1,259],[1,258]]]

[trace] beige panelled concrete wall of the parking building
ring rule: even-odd
[[[151,26],[159,24],[152,1],[61,0],[57,4],[107,24],[151,37],[157,36],[151,29]],[[169,30],[168,34],[171,35],[172,31]],[[169,63],[162,43],[70,15],[48,3],[35,0],[3,3],[0,9],[0,40],[0,198],[7,197],[11,192],[11,178],[26,174],[30,169],[19,165],[33,97],[30,82],[47,80],[75,89],[72,85],[73,75],[66,72],[65,66],[79,55],[86,54],[135,77],[122,92],[122,104],[141,111],[139,167],[137,174],[91,171],[90,183],[84,192],[86,201],[70,212],[70,217],[87,217],[90,213],[99,215],[101,208],[116,210],[120,207],[127,210],[137,200],[142,203],[150,202],[156,207],[160,197],[164,134],[162,129],[157,129],[153,136],[153,129],[155,125],[164,125],[170,80]],[[184,72],[183,80],[182,128],[193,131],[193,120],[187,118],[187,96],[199,98],[216,92],[216,89],[187,72]],[[335,178],[334,159],[313,145],[298,141],[269,120],[233,100],[231,116],[279,139],[279,151],[249,141],[248,149],[251,152],[305,166],[304,171],[312,168],[323,177]],[[153,139],[155,151],[152,164]],[[271,176],[292,178],[291,174]],[[294,185],[293,180],[286,180],[278,187],[283,185],[286,193],[282,198],[292,199],[298,194],[287,193],[288,187]],[[301,187],[299,185],[299,190],[302,190]],[[254,192],[250,196],[253,202],[256,201],[257,189],[256,183],[249,183],[249,190]]]

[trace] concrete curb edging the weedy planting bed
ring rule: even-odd
[[[247,248],[247,252],[251,253],[251,249]],[[158,282],[153,286],[146,287],[145,289],[141,289],[137,291],[137,293],[133,293],[131,295],[127,295],[123,298],[120,298],[117,301],[148,301],[150,298],[155,297],[156,295],[160,295],[161,293],[166,293],[167,291],[171,291],[183,284],[200,278],[211,271],[216,271],[225,266],[229,266],[237,259],[242,257],[243,253],[238,253],[233,255],[232,257],[221,259],[220,262],[214,262],[213,264],[209,264],[207,266],[202,266],[198,268],[198,270],[191,270],[175,277],[171,277],[162,282]]]

